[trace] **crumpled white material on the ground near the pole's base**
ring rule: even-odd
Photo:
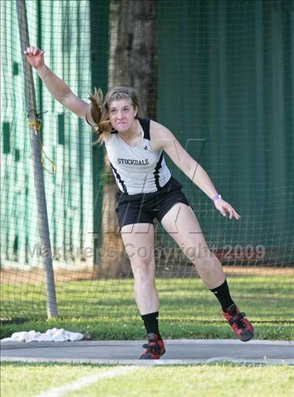
[[[64,342],[66,340],[74,342],[76,340],[82,340],[83,337],[83,333],[70,332],[63,328],[52,328],[48,329],[45,333],[36,331],[15,332],[10,338],[1,339],[1,342]]]

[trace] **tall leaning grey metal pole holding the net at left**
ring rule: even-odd
[[[52,266],[52,251],[48,225],[48,214],[45,197],[43,168],[41,163],[41,147],[39,136],[39,120],[36,113],[36,94],[31,65],[25,57],[25,49],[29,47],[29,29],[27,27],[27,10],[25,0],[17,0],[18,27],[20,30],[20,43],[22,50],[22,65],[25,74],[25,100],[29,117],[29,139],[34,165],[34,182],[36,190],[36,203],[38,211],[38,229],[40,233],[41,247],[45,266],[46,308],[47,317],[57,317],[57,303],[55,294],[55,282]]]

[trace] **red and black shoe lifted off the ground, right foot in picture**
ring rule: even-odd
[[[239,311],[235,303],[230,305],[230,308],[223,312],[223,316],[228,321],[239,340],[247,342],[253,338],[253,325],[246,319],[245,313]]]

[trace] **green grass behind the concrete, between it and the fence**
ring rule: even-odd
[[[293,277],[238,275],[230,289],[241,311],[255,325],[255,338],[294,339]],[[165,338],[234,338],[216,298],[199,279],[159,279],[160,327]],[[15,331],[64,328],[95,339],[145,337],[134,303],[132,280],[83,280],[57,284],[59,319],[45,320],[42,284],[3,284],[1,311],[39,317],[23,324],[1,324],[1,338]]]

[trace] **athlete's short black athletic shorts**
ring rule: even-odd
[[[172,177],[160,191],[154,193],[128,195],[119,190],[116,194],[118,203],[116,213],[120,229],[127,224],[153,224],[154,218],[161,222],[176,203],[190,206],[188,199],[181,191],[182,187],[181,183]]]

